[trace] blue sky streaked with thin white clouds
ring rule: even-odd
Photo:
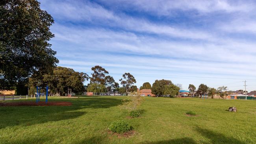
[[[39,0],[55,20],[59,66],[91,74],[100,65],[138,87],[169,79],[256,90],[253,0]]]

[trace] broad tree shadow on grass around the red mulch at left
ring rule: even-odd
[[[121,100],[115,98],[67,98],[50,101],[67,101],[71,102],[72,105],[0,107],[0,129],[8,126],[31,126],[51,121],[74,119],[86,114],[87,108],[109,108],[122,103]]]

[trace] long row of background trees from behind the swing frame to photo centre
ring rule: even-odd
[[[81,93],[85,91],[89,92],[130,92],[137,91],[137,87],[134,86],[136,80],[130,73],[124,73],[122,78],[119,79],[122,87],[119,87],[119,83],[115,82],[112,76],[109,76],[109,72],[101,66],[94,66],[91,68],[93,73],[91,77],[83,72],[75,72],[72,68],[66,68],[57,66],[52,72],[43,74],[42,79],[35,79],[33,76],[29,78],[29,91],[33,94],[36,91],[36,86],[46,87],[49,86],[52,93],[58,93],[64,95],[67,93],[67,89],[72,89],[72,92]],[[83,83],[90,79],[90,83],[84,86]]]

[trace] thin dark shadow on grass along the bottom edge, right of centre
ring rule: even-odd
[[[171,140],[161,140],[156,142],[142,142],[140,144],[197,144],[192,138],[177,138]]]

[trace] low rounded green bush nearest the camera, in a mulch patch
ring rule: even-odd
[[[132,126],[124,120],[112,122],[108,129],[114,133],[125,133],[132,130]]]

